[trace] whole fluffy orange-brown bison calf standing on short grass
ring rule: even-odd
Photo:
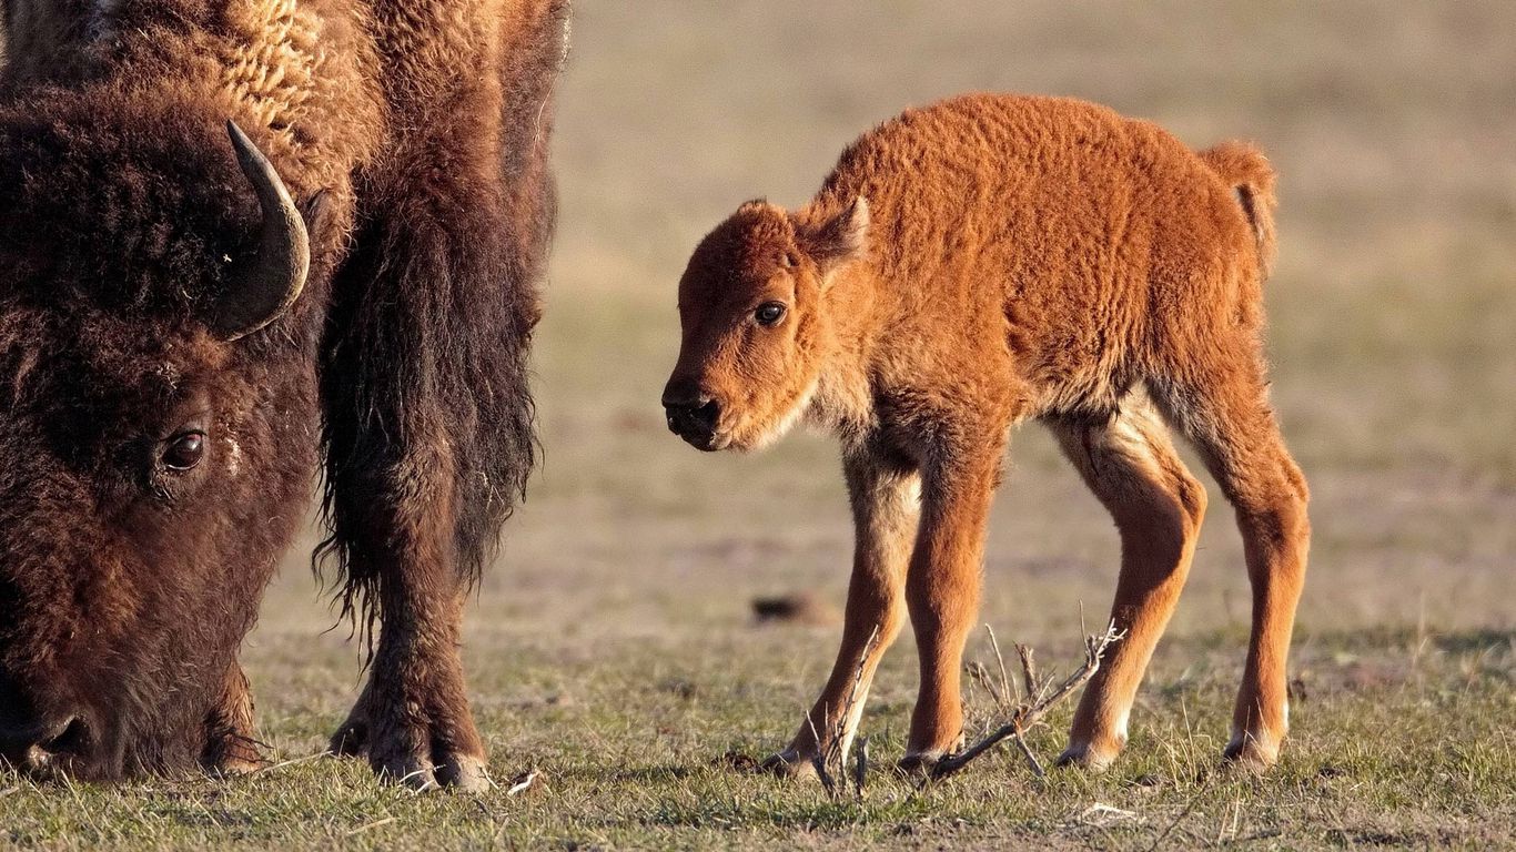
[[[955,747],[985,515],[1026,418],[1052,428],[1122,535],[1111,616],[1126,638],[1064,761],[1104,766],[1125,743],[1195,550],[1205,493],[1164,424],[1199,449],[1246,544],[1254,631],[1226,755],[1275,760],[1308,523],[1261,356],[1272,185],[1237,143],[1196,155],[1095,105],[970,96],[864,135],[802,209],[752,202],[700,243],[679,282],[670,428],[714,450],[800,417],[828,426],[857,518],[841,652],[775,766],[810,766],[905,612],[922,666],[907,761]]]

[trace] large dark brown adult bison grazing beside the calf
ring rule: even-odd
[[[567,0],[9,0],[0,752],[256,761],[236,650],[324,452],[334,746],[484,782],[461,606],[532,464]]]

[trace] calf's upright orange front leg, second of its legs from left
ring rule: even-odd
[[[923,770],[963,738],[963,647],[979,612],[985,522],[1005,431],[964,437],[934,453],[922,484],[922,528],[905,581],[920,655],[920,693],[902,769]]]

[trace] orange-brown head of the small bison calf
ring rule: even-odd
[[[669,429],[702,450],[755,449],[799,420],[837,347],[828,291],[866,246],[869,205],[790,214],[738,208],[700,241],[679,280],[679,361]]]

